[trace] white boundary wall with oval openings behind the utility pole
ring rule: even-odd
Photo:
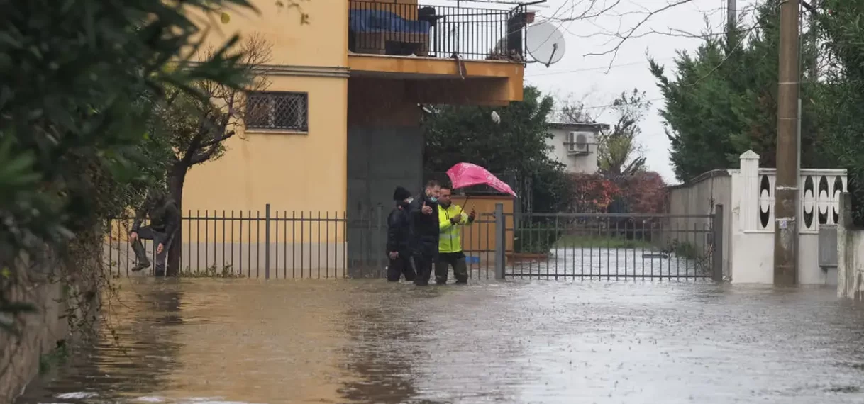
[[[735,283],[773,283],[774,279],[774,199],[776,176],[773,168],[759,168],[759,155],[747,151],[740,156],[740,170],[728,170],[729,177],[708,178],[692,185],[677,186],[670,193],[670,214],[708,214],[711,200],[723,203],[724,273]],[[710,175],[706,174],[707,177]],[[815,179],[815,180],[814,180]],[[829,186],[810,189],[806,184],[824,182]],[[839,191],[833,184],[846,186],[846,171],[803,169],[799,180],[798,201],[798,274],[803,285],[832,285],[835,269],[823,269],[818,262],[820,224],[834,224]],[[814,191],[816,191],[814,193]],[[727,197],[728,195],[728,197]],[[728,198],[728,199],[727,199]],[[821,215],[806,219],[808,212]],[[820,218],[821,216],[821,218]]]

